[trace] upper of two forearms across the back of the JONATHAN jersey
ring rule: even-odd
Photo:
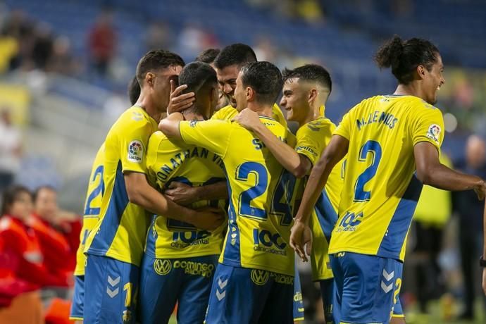
[[[163,194],[168,199],[184,206],[200,200],[228,199],[228,186],[226,181],[197,187],[173,181]]]

